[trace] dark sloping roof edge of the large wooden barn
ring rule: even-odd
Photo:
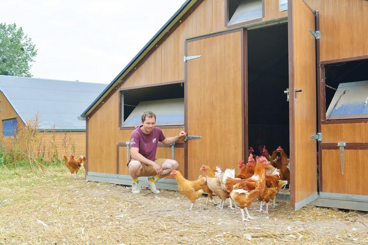
[[[108,94],[112,87],[116,85],[119,78],[121,78],[124,74],[126,75],[130,72],[130,68],[132,68],[141,58],[143,58],[147,52],[154,47],[165,34],[165,30],[170,29],[179,18],[185,14],[198,0],[186,0],[183,5],[171,16],[171,18],[167,21],[167,23],[160,28],[160,30],[148,41],[148,43],[134,56],[134,58],[125,66],[125,68],[110,82],[106,88],[100,93],[100,95],[91,103],[91,105],[83,111],[80,117],[87,117],[103,100],[106,94]],[[178,18],[179,17],[179,18]]]

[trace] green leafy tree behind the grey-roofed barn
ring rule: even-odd
[[[22,27],[0,23],[0,75],[32,77],[31,62],[37,50]]]

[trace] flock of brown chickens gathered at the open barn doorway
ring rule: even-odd
[[[290,160],[281,146],[271,155],[268,154],[265,146],[259,149],[260,156],[255,156],[253,148],[249,148],[248,163],[239,161],[238,174],[235,174],[234,169],[223,171],[220,166],[211,168],[202,165],[200,171],[203,172],[203,176],[200,175],[196,181],[189,181],[179,171],[172,170],[171,175],[178,183],[178,191],[192,202],[188,210],[192,210],[194,203],[203,192],[208,194],[206,204],[210,199],[216,205],[213,193],[220,198],[221,201],[217,205],[219,209],[223,209],[226,199],[229,199],[230,209],[240,208],[242,221],[254,219],[250,216],[248,208],[255,199],[260,201],[260,209],[257,212],[268,214],[270,203],[274,209],[276,194],[282,187],[290,184]],[[263,210],[265,203],[266,210]]]

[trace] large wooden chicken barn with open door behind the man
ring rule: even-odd
[[[291,208],[368,211],[366,13],[366,0],[185,1],[82,113],[86,179],[131,184],[126,141],[151,109],[165,135],[201,136],[157,153],[190,180],[281,145]]]

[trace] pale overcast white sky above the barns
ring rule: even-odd
[[[0,0],[0,23],[22,27],[33,78],[110,83],[185,0]]]

